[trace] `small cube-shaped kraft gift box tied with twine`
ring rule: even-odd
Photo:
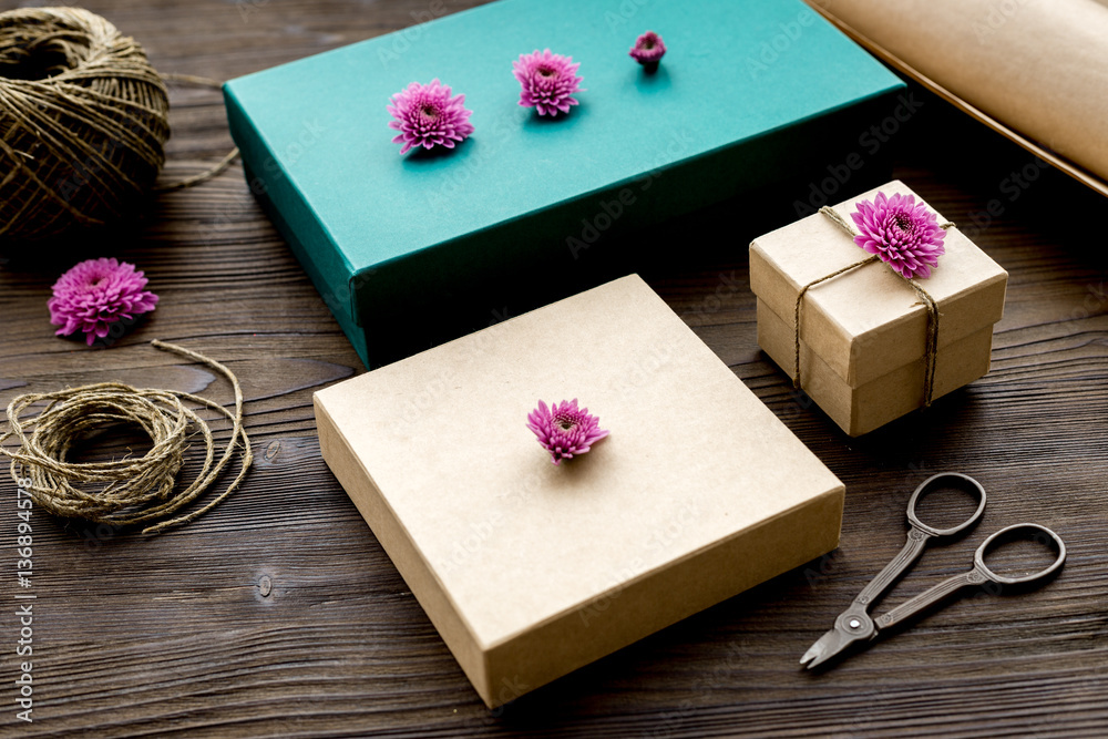
[[[858,244],[851,214],[893,181],[750,244],[758,343],[839,427],[868,433],[988,371],[1008,274],[942,214],[945,254],[905,279]],[[798,328],[799,318],[799,328]]]

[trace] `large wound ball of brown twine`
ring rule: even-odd
[[[100,16],[0,12],[0,238],[129,214],[165,161],[168,113],[142,47]]]

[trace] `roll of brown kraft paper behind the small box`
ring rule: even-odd
[[[1105,0],[809,1],[1108,192]]]

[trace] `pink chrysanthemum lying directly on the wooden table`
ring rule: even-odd
[[[50,322],[61,326],[55,333],[84,331],[91,347],[107,336],[112,324],[154,310],[157,296],[146,287],[146,278],[126,261],[88,259],[54,283],[54,297],[47,301]]]

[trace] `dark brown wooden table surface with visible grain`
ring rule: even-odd
[[[86,7],[136,37],[161,71],[223,80],[470,4]],[[242,378],[257,462],[218,507],[153,538],[35,513],[32,723],[16,718],[18,520],[14,486],[3,483],[0,736],[1104,736],[1108,204],[921,100],[885,153],[895,176],[1009,271],[989,374],[927,412],[848,439],[758,349],[746,257],[756,218],[697,220],[689,244],[718,242],[721,226],[726,243],[656,260],[644,276],[845,483],[841,546],[496,711],[481,705],[320,459],[311,393],[363,368],[240,166],[160,197],[107,236],[6,248],[0,402],[110,379],[229,402],[225,381],[148,345],[175,341]],[[217,93],[174,88],[172,101],[165,177],[197,172],[230,146]],[[94,256],[135,263],[162,298],[150,320],[101,350],[54,338],[45,308],[57,276]],[[740,289],[717,291],[729,284],[721,275]],[[981,480],[989,507],[970,537],[927,552],[886,603],[963,569],[988,532],[1018,521],[1065,537],[1063,574],[1026,594],[965,597],[828,673],[798,669],[899,551],[911,491],[942,470]]]

